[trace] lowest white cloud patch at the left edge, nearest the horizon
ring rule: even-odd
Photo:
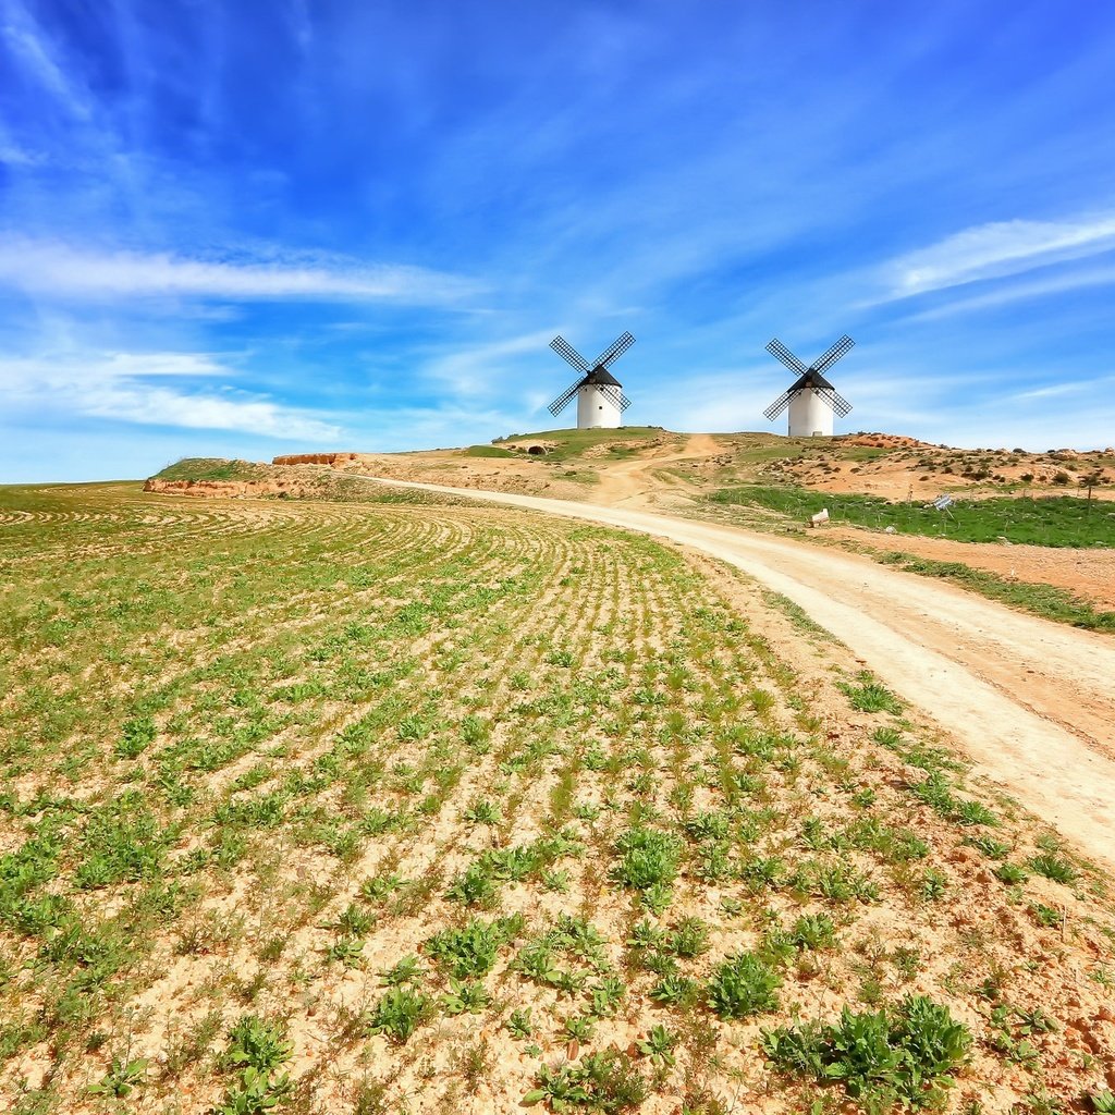
[[[169,380],[211,380],[167,386]],[[291,442],[336,442],[341,427],[227,386],[234,369],[195,352],[42,353],[0,360],[0,397],[20,406],[145,426],[235,430]]]

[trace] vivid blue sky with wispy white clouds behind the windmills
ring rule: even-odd
[[[1115,7],[0,0],[0,482],[554,425],[1115,443]]]

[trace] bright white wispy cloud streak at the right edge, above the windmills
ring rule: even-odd
[[[882,301],[1000,279],[1115,249],[1115,214],[1074,221],[995,221],[946,236],[883,265]]]

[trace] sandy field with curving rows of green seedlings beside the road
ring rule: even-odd
[[[1107,1102],[1106,881],[894,695],[392,495],[0,488],[0,1108]]]

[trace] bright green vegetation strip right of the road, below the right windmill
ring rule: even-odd
[[[811,492],[798,487],[747,485],[721,488],[709,498],[776,511],[805,520],[823,507],[833,522],[855,526],[893,526],[900,534],[944,536],[958,542],[995,542],[1039,546],[1115,545],[1115,504],[1079,496],[1029,496],[960,500],[951,516],[922,503],[894,503],[880,496]]]

